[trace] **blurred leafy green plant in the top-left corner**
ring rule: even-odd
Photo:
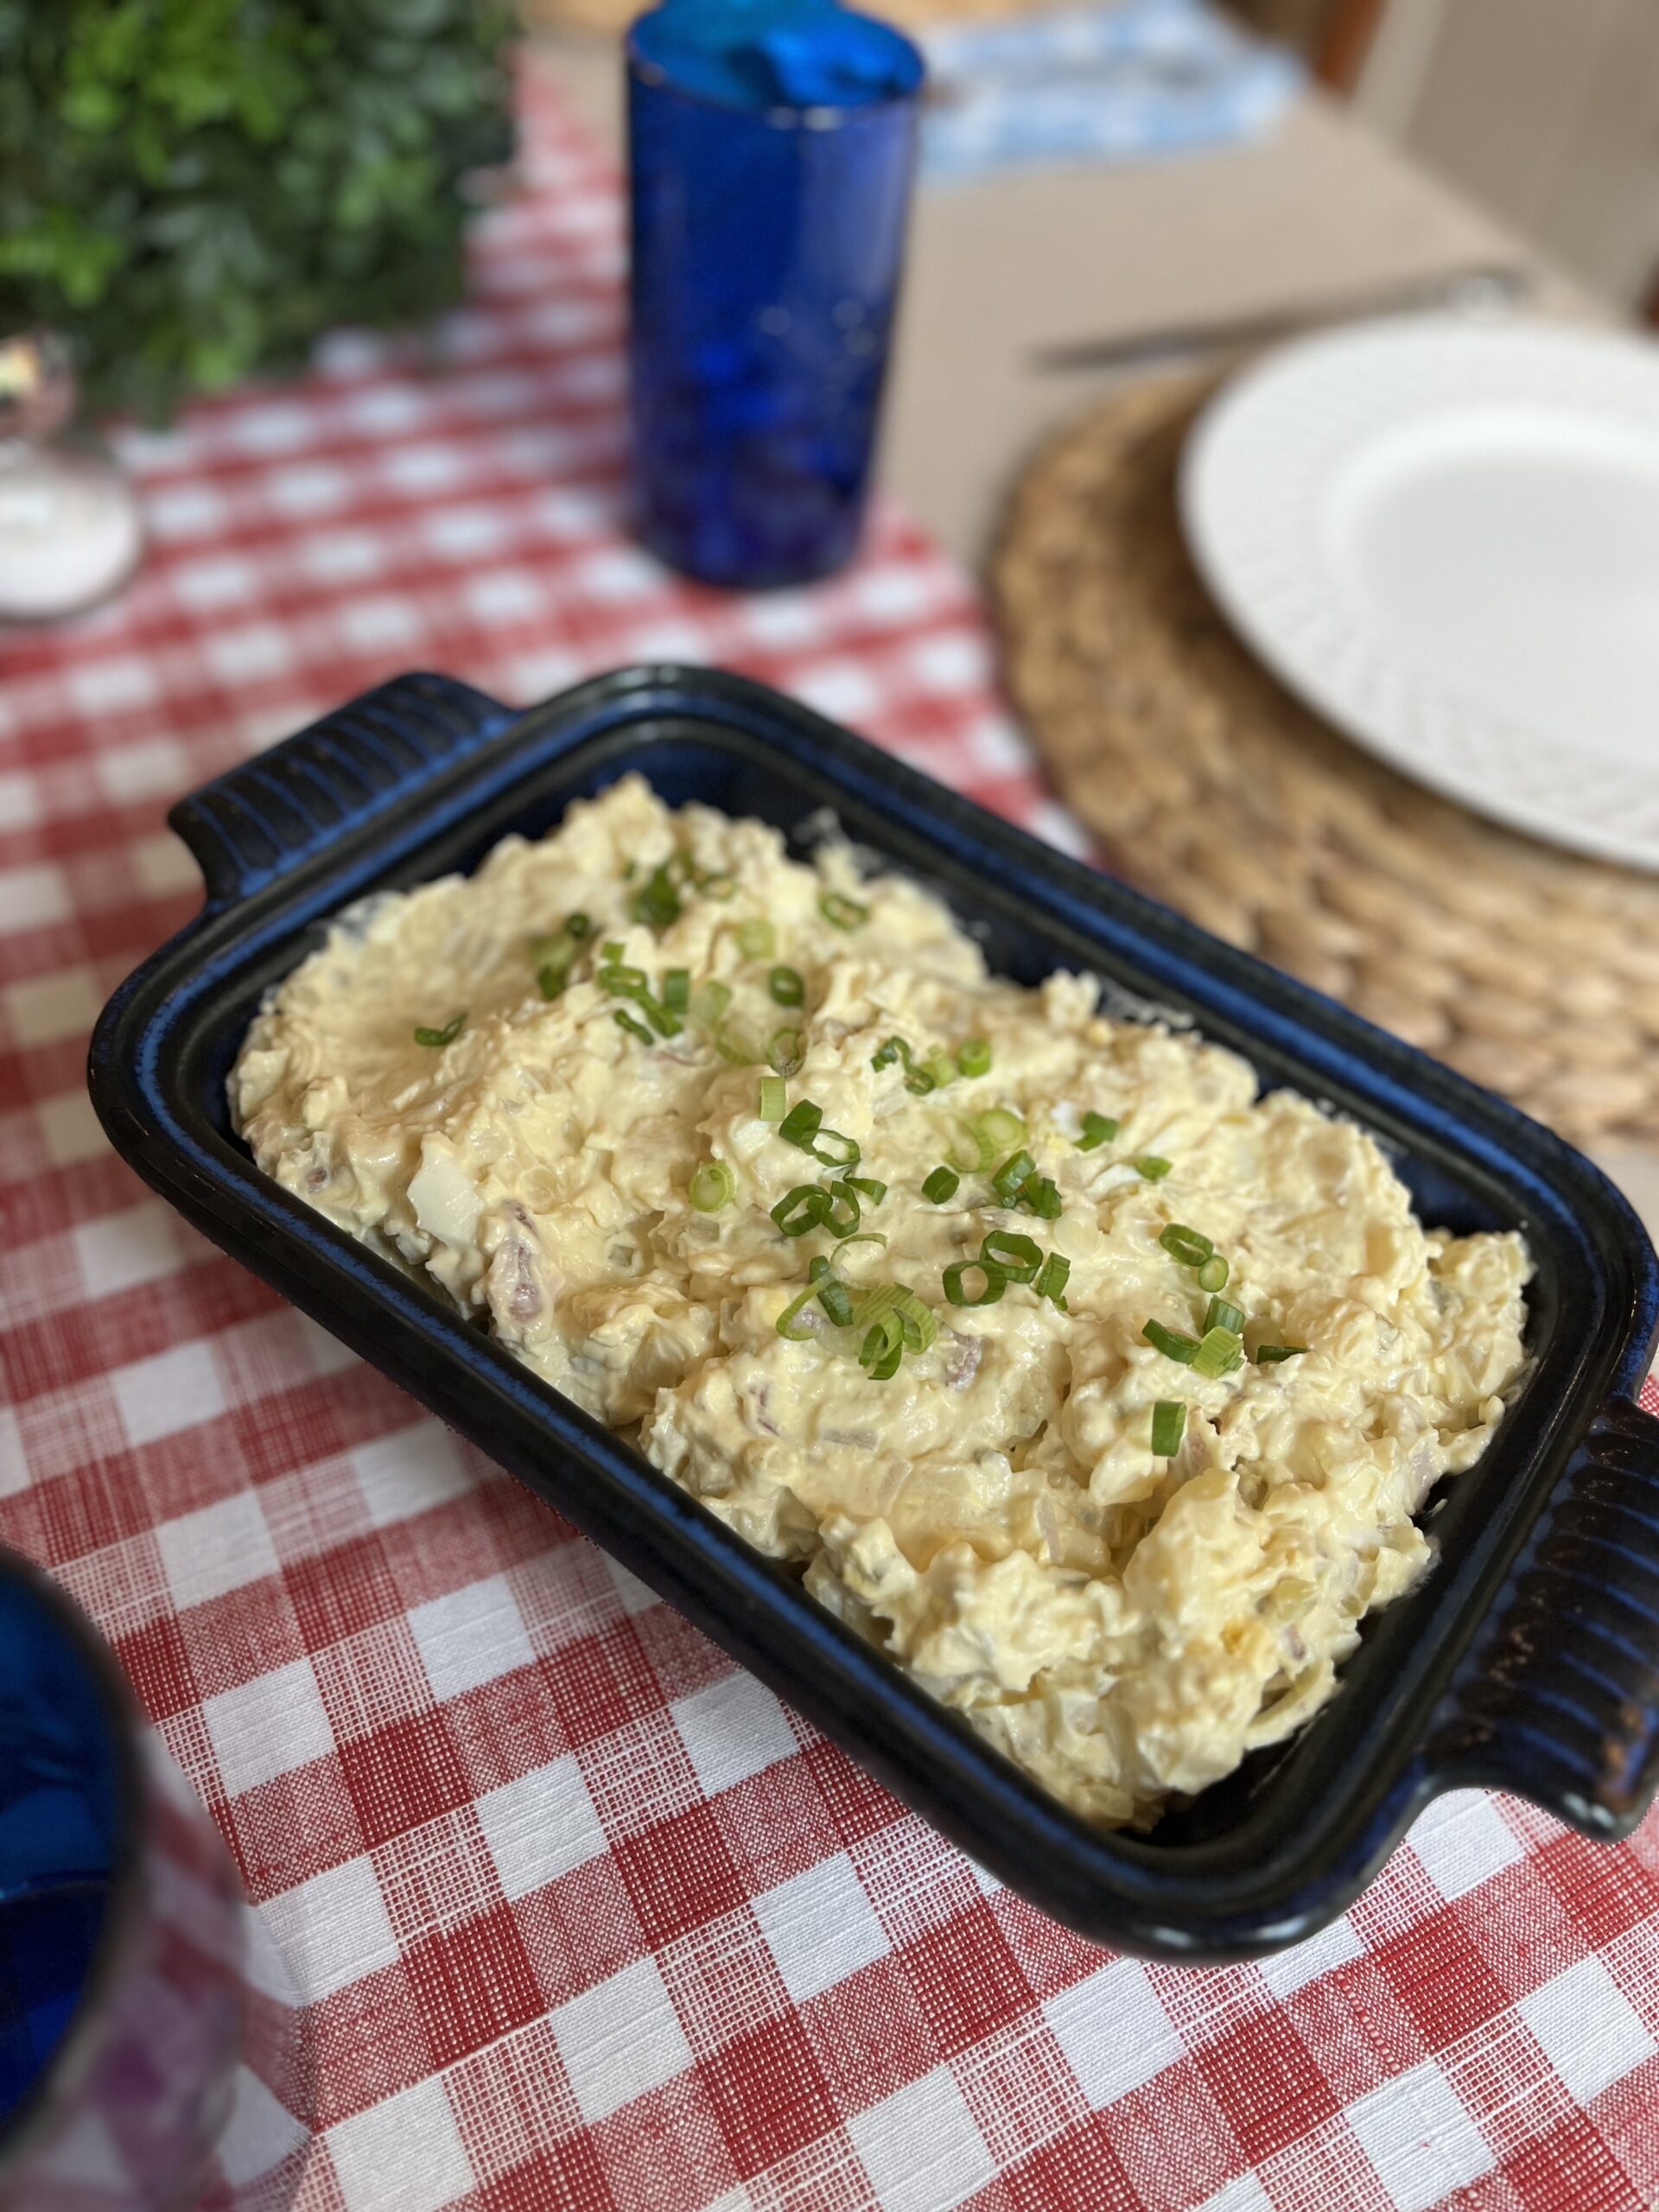
[[[504,0],[0,0],[0,330],[166,416],[460,294]]]

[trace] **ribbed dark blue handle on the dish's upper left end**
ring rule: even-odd
[[[513,719],[500,699],[453,677],[394,677],[190,792],[168,821],[201,865],[208,902],[232,905],[385,814]]]

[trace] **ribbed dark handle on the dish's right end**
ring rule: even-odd
[[[1608,1398],[1429,1743],[1458,1781],[1624,1836],[1659,1783],[1659,1420]]]

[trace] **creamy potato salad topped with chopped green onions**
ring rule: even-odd
[[[639,776],[334,922],[230,1077],[429,1276],[1055,1796],[1146,1825],[1336,1686],[1522,1374],[1526,1248],[1088,975]]]

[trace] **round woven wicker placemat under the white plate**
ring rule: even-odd
[[[1234,639],[1175,509],[1210,387],[1104,400],[1004,522],[1006,679],[1064,801],[1119,874],[1564,1135],[1659,1139],[1659,878],[1407,783]]]

